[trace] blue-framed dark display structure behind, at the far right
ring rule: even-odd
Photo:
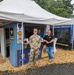
[[[54,26],[54,36],[58,38],[57,41],[58,43],[72,44],[73,35],[74,35],[74,25]]]

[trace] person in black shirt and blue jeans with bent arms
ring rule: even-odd
[[[52,61],[53,54],[53,42],[54,42],[54,37],[51,35],[51,31],[48,30],[48,34],[44,36],[43,41],[46,43],[46,52],[48,53],[49,61]]]

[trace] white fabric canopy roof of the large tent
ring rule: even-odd
[[[0,19],[50,25],[73,24],[72,19],[49,13],[33,0],[3,0],[0,3]]]

